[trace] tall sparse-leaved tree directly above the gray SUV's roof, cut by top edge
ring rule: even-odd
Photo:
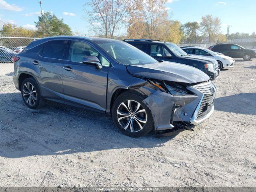
[[[84,17],[90,23],[95,35],[104,34],[106,38],[114,37],[114,32],[125,22],[129,0],[91,0],[84,5]],[[87,7],[92,10],[88,11]]]

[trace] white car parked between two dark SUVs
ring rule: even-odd
[[[226,67],[234,67],[235,60],[229,56],[213,52],[206,48],[201,47],[183,47],[187,54],[200,55],[207,58],[212,58],[218,61],[219,69]]]

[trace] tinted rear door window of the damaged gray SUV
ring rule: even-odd
[[[68,44],[67,40],[53,40],[49,41],[42,51],[42,57],[53,58],[53,59],[63,59],[64,51],[66,45]]]

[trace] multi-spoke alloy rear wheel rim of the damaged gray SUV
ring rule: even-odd
[[[35,87],[31,83],[26,82],[23,85],[22,92],[23,92],[22,96],[25,102],[30,106],[34,106],[37,100],[37,93],[36,93]]]

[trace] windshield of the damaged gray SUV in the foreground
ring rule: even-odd
[[[157,60],[148,54],[135,48],[134,46],[122,42],[111,40],[93,40],[98,46],[104,49],[114,60],[121,64],[141,65],[158,63]]]

